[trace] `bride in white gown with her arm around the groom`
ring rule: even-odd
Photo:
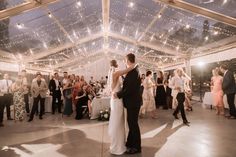
[[[110,62],[110,70],[108,74],[108,88],[110,93],[115,93],[121,90],[121,76],[133,70],[135,66],[125,70],[117,70],[116,60]],[[112,95],[112,94],[111,94]],[[121,155],[126,151],[125,146],[125,117],[122,99],[116,99],[111,96],[111,116],[109,120],[108,133],[111,138],[110,153]]]

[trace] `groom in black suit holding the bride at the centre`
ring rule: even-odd
[[[126,56],[127,67],[135,64],[135,55],[130,53]],[[129,134],[126,142],[127,154],[136,154],[141,152],[141,135],[138,125],[138,115],[142,102],[141,97],[141,79],[138,67],[130,71],[123,82],[123,88],[114,97],[123,99],[124,107],[127,109],[127,121]]]

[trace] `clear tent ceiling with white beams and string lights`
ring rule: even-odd
[[[0,58],[56,69],[134,52],[145,67],[176,64],[236,47],[235,8],[234,0],[3,0]]]

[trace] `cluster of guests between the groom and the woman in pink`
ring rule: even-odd
[[[164,77],[162,71],[158,71],[157,78],[153,77],[151,71],[142,75],[142,97],[143,105],[140,109],[140,117],[145,115],[157,118],[157,110],[162,107],[175,109],[173,116],[178,118],[179,111],[184,124],[188,124],[185,110],[192,111],[190,88],[191,78],[182,69],[174,71],[173,76]]]

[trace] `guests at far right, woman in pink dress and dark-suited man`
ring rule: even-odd
[[[212,70],[211,93],[213,97],[213,106],[216,114],[223,115],[230,119],[236,119],[236,109],[234,104],[236,85],[234,75],[228,70],[227,65],[221,65]],[[225,106],[223,102],[224,94],[229,104],[229,115],[225,115]]]

